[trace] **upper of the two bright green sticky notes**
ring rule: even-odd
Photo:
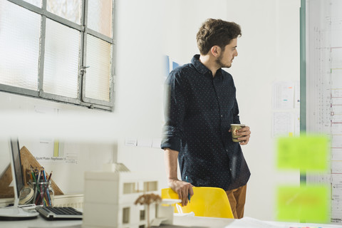
[[[328,169],[328,138],[301,136],[279,138],[276,164],[279,169],[325,171]]]

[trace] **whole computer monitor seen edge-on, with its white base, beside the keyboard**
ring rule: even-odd
[[[11,172],[14,187],[14,206],[0,208],[0,219],[33,219],[38,216],[35,210],[19,207],[19,195],[24,188],[24,174],[21,168],[20,147],[18,139],[9,140]]]

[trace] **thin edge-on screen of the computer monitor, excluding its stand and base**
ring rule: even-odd
[[[21,168],[21,158],[20,158],[20,149],[19,149],[19,141],[18,139],[11,139],[11,154],[13,157],[13,166],[14,166],[14,175],[13,180],[16,182],[16,191],[17,196],[19,197],[20,191],[24,187],[24,175],[23,170]]]

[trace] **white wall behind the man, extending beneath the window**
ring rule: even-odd
[[[299,181],[297,173],[276,171],[271,138],[271,83],[299,80],[299,5],[300,0],[118,0],[115,112],[0,93],[0,138],[19,132],[29,144],[32,135],[66,137],[83,151],[83,164],[98,163],[91,168],[99,168],[96,158],[108,162],[118,150],[118,162],[133,171],[155,172],[160,187],[167,187],[162,151],[125,146],[125,138],[160,138],[163,55],[187,63],[198,53],[196,33],[205,19],[235,21],[242,26],[242,37],[239,56],[228,71],[237,86],[240,119],[252,130],[249,145],[243,147],[252,171],[245,215],[273,220],[276,186]],[[61,118],[36,115],[36,105],[61,109]],[[11,121],[17,121],[15,128]]]

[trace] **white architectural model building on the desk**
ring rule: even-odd
[[[86,172],[83,228],[146,228],[147,206],[135,205],[142,194],[157,194],[158,182],[146,173],[112,164],[102,172]],[[150,204],[150,224],[172,224],[175,201]]]

